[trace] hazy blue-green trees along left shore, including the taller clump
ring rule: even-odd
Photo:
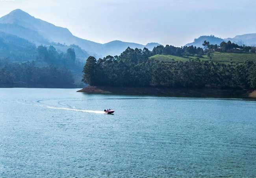
[[[20,62],[15,57],[0,58],[0,87],[76,87],[71,70],[82,71],[82,65],[76,62],[73,48],[68,48],[66,53],[57,51],[52,45],[31,49],[19,56],[24,59]],[[29,53],[32,57],[25,60]]]

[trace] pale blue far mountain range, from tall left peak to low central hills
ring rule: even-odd
[[[149,47],[152,49],[157,43],[141,45],[122,41],[113,41],[106,44],[100,44],[93,41],[78,38],[67,29],[50,24],[39,18],[35,18],[28,13],[16,9],[0,18],[0,31],[10,33],[35,44],[49,44],[52,42],[78,45],[89,54],[98,54],[98,56],[119,55],[128,46],[132,48]]]

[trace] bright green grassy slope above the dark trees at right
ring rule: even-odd
[[[230,62],[237,62],[242,63],[245,60],[252,60],[256,61],[256,54],[253,53],[211,53],[212,61],[213,62],[221,62],[224,64],[230,64]],[[189,59],[195,59],[197,57],[193,56],[173,56],[173,55],[161,55],[157,54],[151,56],[150,58],[155,60],[160,60],[163,62],[173,62],[174,61],[187,61]],[[232,60],[230,60],[232,59]],[[210,60],[210,58],[206,55],[202,56],[200,60]],[[234,63],[233,63],[234,64]]]

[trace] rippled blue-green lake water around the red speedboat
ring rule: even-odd
[[[0,177],[256,176],[256,102],[76,90],[0,89]]]

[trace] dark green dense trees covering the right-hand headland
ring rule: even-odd
[[[239,48],[246,53],[252,47],[236,46],[228,42],[221,46],[204,42],[200,47],[174,47],[160,45],[152,51],[147,48],[127,48],[120,56],[106,56],[96,60],[90,56],[84,66],[83,82],[89,85],[170,88],[256,88],[256,63],[229,65],[198,59],[186,62],[161,62],[149,59],[155,54],[202,55],[212,50]],[[226,46],[225,46],[226,45]],[[225,48],[225,47],[226,48]]]

